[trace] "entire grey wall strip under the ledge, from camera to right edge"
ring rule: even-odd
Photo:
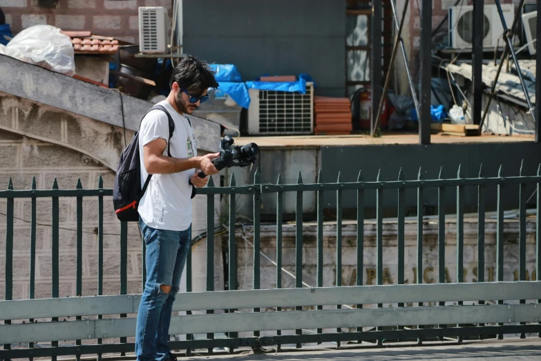
[[[491,122],[490,124],[493,124]],[[509,123],[507,123],[509,124]],[[522,138],[521,138],[522,139]],[[343,182],[355,182],[359,170],[367,182],[374,182],[381,169],[381,180],[397,180],[399,170],[407,180],[416,180],[419,167],[422,167],[424,179],[437,179],[440,167],[442,178],[457,178],[459,165],[466,178],[476,178],[480,166],[483,165],[485,176],[497,176],[498,168],[502,165],[503,176],[518,176],[520,163],[524,159],[523,174],[533,176],[541,163],[539,145],[528,138],[524,142],[505,143],[471,143],[471,144],[435,144],[428,147],[419,145],[363,145],[351,147],[321,147],[321,149],[265,149],[258,156],[254,167],[231,168],[224,173],[225,185],[229,185],[231,174],[235,175],[236,185],[254,183],[254,172],[260,170],[262,183],[274,183],[281,174],[284,184],[297,183],[298,172],[303,176],[303,183],[316,183],[319,169],[322,169],[323,183],[334,183],[340,172]],[[527,198],[535,190],[534,184],[526,186]],[[497,187],[486,187],[486,210],[495,210]],[[477,210],[477,187],[465,187],[464,200],[467,212]],[[456,211],[456,188],[446,189],[446,212]],[[518,185],[509,185],[502,194],[504,210],[518,208]],[[284,196],[283,212],[286,219],[294,219],[296,211],[296,194],[287,193]],[[323,207],[325,212],[336,214],[336,192],[323,192]],[[227,197],[222,198],[224,212],[229,210]],[[265,220],[276,217],[276,194],[263,194],[263,205],[260,214]],[[383,206],[385,216],[396,216],[397,191],[383,191]],[[424,206],[427,214],[437,212],[437,189],[427,188],[424,192]],[[535,197],[529,199],[529,207],[535,205]],[[365,212],[367,217],[374,217],[376,207],[376,192],[365,192]],[[416,214],[417,189],[406,190],[407,212]],[[355,191],[343,192],[344,215],[349,219],[355,218],[357,195]],[[315,219],[316,192],[304,192],[303,212],[305,219]],[[253,215],[253,199],[251,196],[237,196],[237,213],[251,219]]]

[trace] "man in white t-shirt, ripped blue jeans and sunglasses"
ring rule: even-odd
[[[139,205],[139,226],[146,247],[146,284],[137,314],[135,355],[139,361],[176,360],[167,346],[171,308],[191,242],[191,184],[204,187],[218,173],[211,163],[219,154],[197,156],[196,136],[186,114],[218,88],[206,62],[186,57],[169,82],[171,92],[160,102],[175,124],[171,157],[167,156],[169,120],[161,110],[150,111],[139,133],[141,184],[153,174]],[[195,170],[195,171],[194,171]],[[202,171],[207,177],[199,178]]]

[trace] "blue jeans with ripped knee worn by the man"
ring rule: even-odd
[[[137,313],[135,355],[137,361],[169,360],[169,324],[180,277],[190,249],[191,225],[178,232],[157,230],[139,219],[146,248],[146,283]],[[160,286],[171,286],[164,293]]]

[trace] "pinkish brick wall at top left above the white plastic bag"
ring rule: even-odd
[[[164,6],[171,22],[173,0],[0,0],[13,33],[49,24],[62,30],[91,30],[135,44],[139,41],[140,6]]]

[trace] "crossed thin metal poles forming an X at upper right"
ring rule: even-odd
[[[520,73],[520,67],[518,66],[518,61],[516,60],[517,56],[515,55],[515,50],[513,50],[513,42],[512,42],[513,41],[513,34],[515,33],[515,28],[517,27],[518,19],[520,18],[520,11],[518,11],[515,14],[515,19],[513,20],[513,25],[511,26],[511,30],[509,30],[507,28],[507,25],[506,25],[506,22],[505,22],[505,18],[504,18],[504,14],[502,12],[502,5],[500,4],[500,0],[495,0],[495,3],[496,3],[496,7],[498,9],[498,12],[500,13],[500,20],[502,21],[502,26],[504,28],[504,35],[506,37],[506,43],[505,43],[504,53],[502,54],[502,57],[500,58],[500,64],[498,64],[498,67],[497,67],[497,72],[496,72],[496,76],[494,78],[494,82],[492,83],[492,86],[491,86],[491,93],[489,94],[490,96],[488,97],[488,101],[486,102],[486,107],[484,108],[483,118],[481,120],[481,123],[479,124],[479,132],[480,133],[482,131],[484,121],[486,120],[486,115],[488,115],[488,109],[490,108],[491,102],[492,102],[492,100],[493,100],[493,98],[495,96],[496,84],[497,84],[498,78],[500,77],[500,73],[502,71],[502,66],[504,64],[504,59],[506,59],[506,57],[509,54],[510,50],[511,50],[512,55],[513,55],[513,60],[515,61],[515,66],[517,67],[517,72],[518,72],[518,76],[519,76],[519,79],[520,79],[520,83],[522,84],[522,90],[524,91],[524,95],[526,95],[526,102],[528,103],[529,109],[532,109],[531,108],[531,102],[530,102],[530,96],[528,94],[528,91],[526,90],[526,87],[524,86],[524,79],[522,79],[522,73]],[[520,5],[518,6],[518,8],[522,9],[522,6],[524,6],[524,0],[520,1]],[[539,30],[538,30],[538,32],[539,32]],[[511,38],[509,36],[511,36]],[[533,111],[531,113],[532,113],[533,119],[535,121],[535,115],[534,115]]]

